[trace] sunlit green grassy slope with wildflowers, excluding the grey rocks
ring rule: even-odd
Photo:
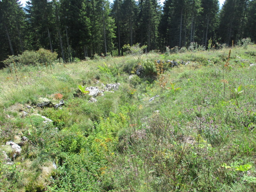
[[[129,79],[136,65],[130,56],[56,64],[52,72],[24,67],[16,83],[15,75],[2,70],[1,144],[17,136],[31,142],[22,146],[13,166],[0,165],[0,189],[256,190],[256,67],[249,66],[256,62],[256,47],[232,48],[230,69],[223,67],[228,51],[144,56],[144,65],[158,59],[190,61],[165,67],[158,78]],[[120,89],[97,97],[96,103],[88,96],[74,97],[80,84],[102,88],[101,83],[114,82],[121,83]],[[62,109],[26,109],[53,124],[20,118],[22,105],[56,93],[63,94]],[[58,169],[50,169],[52,161]]]

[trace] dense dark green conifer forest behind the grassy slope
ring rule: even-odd
[[[65,62],[95,54],[120,56],[125,44],[145,51],[207,47],[209,40],[256,41],[256,0],[19,0],[0,1],[0,61],[44,48]],[[1,63],[1,66],[4,64]]]

